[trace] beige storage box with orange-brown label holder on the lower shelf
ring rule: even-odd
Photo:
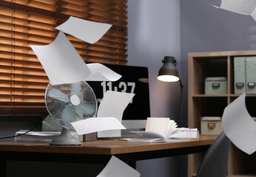
[[[219,135],[221,132],[221,117],[201,117],[202,135]]]

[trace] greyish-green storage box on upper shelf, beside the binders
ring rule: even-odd
[[[206,77],[205,94],[227,94],[226,77]]]

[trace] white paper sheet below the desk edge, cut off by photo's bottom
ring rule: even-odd
[[[112,156],[106,167],[96,177],[139,177],[138,171],[134,170],[128,164]]]

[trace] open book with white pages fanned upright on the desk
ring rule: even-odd
[[[145,131],[131,131],[141,137],[129,139],[128,142],[180,142],[181,139],[171,138],[177,132],[177,124],[166,117],[150,117],[146,120]]]

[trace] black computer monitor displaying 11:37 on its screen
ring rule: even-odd
[[[115,82],[88,81],[101,103],[106,91],[124,91],[135,96],[124,111],[122,124],[126,128],[145,128],[146,118],[150,117],[148,69],[143,66],[120,66],[104,64],[122,77]]]

